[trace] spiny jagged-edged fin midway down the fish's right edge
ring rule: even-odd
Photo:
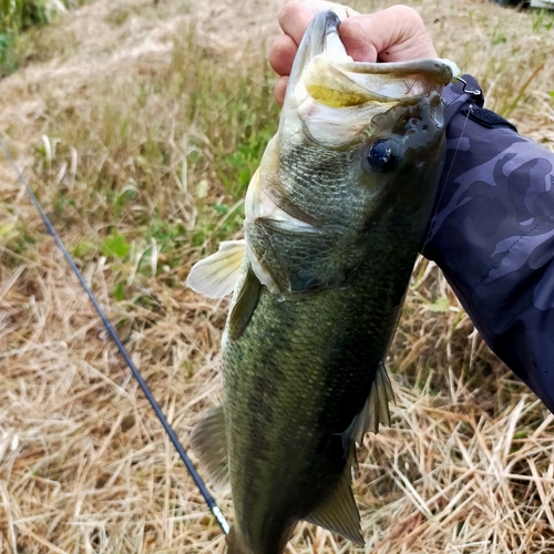
[[[366,404],[342,433],[342,444],[345,448],[349,441],[356,441],[358,444],[361,444],[363,435],[368,431],[377,434],[379,432],[379,423],[390,425],[390,401],[394,401],[394,391],[392,390],[384,363],[380,361]]]

